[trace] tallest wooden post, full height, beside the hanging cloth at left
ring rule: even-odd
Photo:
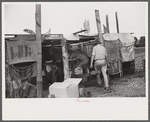
[[[42,98],[42,45],[41,45],[41,5],[36,5],[36,41],[37,41],[37,97]]]

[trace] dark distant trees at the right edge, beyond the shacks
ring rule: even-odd
[[[141,36],[140,39],[134,37],[135,39],[135,47],[145,47],[145,36]]]

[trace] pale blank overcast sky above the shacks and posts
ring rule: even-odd
[[[37,2],[38,3],[38,2]],[[33,3],[3,4],[5,34],[25,34],[23,29],[35,31],[35,6]],[[133,32],[145,36],[148,4],[146,2],[46,2],[41,4],[42,33],[51,28],[52,34],[69,34],[83,29],[90,22],[90,33],[97,33],[95,10],[99,10],[101,24],[109,18],[110,33],[116,33],[115,12],[118,13],[120,33]],[[103,26],[102,26],[103,31]]]

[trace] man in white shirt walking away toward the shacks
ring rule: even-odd
[[[93,47],[92,51],[92,57],[91,57],[91,64],[90,67],[93,67],[93,61],[94,63],[94,69],[97,75],[97,82],[99,85],[101,85],[102,81],[100,79],[100,70],[102,71],[103,77],[104,77],[104,83],[105,83],[105,91],[109,92],[109,83],[108,83],[108,76],[107,76],[107,65],[108,58],[107,58],[107,50],[104,46],[101,45],[101,42],[96,41],[97,45]]]

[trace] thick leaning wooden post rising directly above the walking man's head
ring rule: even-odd
[[[101,29],[101,22],[100,22],[100,16],[99,16],[99,11],[95,10],[95,17],[96,17],[96,24],[97,24],[97,30],[98,30],[98,35],[99,35],[99,41],[104,45],[104,40],[102,37],[102,29]]]

